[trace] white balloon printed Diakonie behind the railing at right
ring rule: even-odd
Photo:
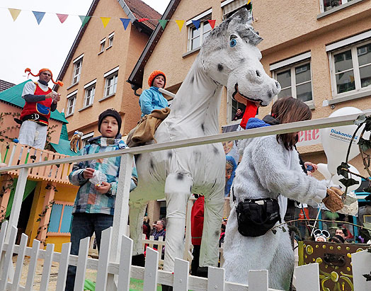
[[[362,110],[355,107],[343,107],[333,113],[329,117],[350,115],[362,113]],[[348,152],[349,142],[353,133],[357,129],[357,125],[345,125],[338,127],[328,127],[320,130],[322,146],[327,157],[327,168],[331,175],[336,175],[336,168],[340,166],[342,161],[346,161],[346,153]],[[352,147],[350,148],[348,161],[353,159],[360,153],[358,148],[358,140],[363,127],[358,130]]]

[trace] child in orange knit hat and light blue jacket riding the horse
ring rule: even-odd
[[[140,110],[142,117],[152,113],[155,109],[162,109],[169,106],[166,98],[159,92],[159,88],[164,88],[166,76],[164,72],[156,70],[149,75],[149,89],[144,90],[139,97]]]

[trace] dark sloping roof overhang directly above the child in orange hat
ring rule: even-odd
[[[180,2],[181,0],[171,0],[161,19],[171,19]],[[130,73],[127,82],[137,86],[138,88],[142,88],[144,65],[147,63],[149,57],[151,57],[154,47],[156,47],[157,42],[159,42],[159,38],[161,38],[162,33],[164,33],[164,29],[162,29],[161,25],[157,25],[151,37],[149,38],[147,45],[144,47],[142,55],[140,55],[137,64],[135,64],[134,69]]]

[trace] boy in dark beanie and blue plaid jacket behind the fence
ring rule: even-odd
[[[89,144],[82,149],[81,156],[125,149],[127,145],[120,138],[121,123],[120,114],[116,110],[103,111],[98,117],[98,130],[102,135],[89,139]],[[112,158],[81,161],[74,165],[72,172],[69,174],[69,181],[76,186],[80,186],[72,212],[71,254],[77,255],[80,240],[92,236],[93,232],[96,233],[99,251],[102,231],[113,225],[120,160],[120,156],[114,156]],[[96,176],[94,175],[95,171],[97,171],[96,173],[101,172],[101,181],[93,184],[90,179]],[[137,169],[133,160],[130,191],[135,187],[137,187]],[[66,290],[74,290],[75,275],[76,267],[69,266]]]

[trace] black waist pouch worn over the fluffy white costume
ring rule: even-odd
[[[236,206],[239,233],[262,236],[280,221],[280,206],[275,199],[245,199]]]

